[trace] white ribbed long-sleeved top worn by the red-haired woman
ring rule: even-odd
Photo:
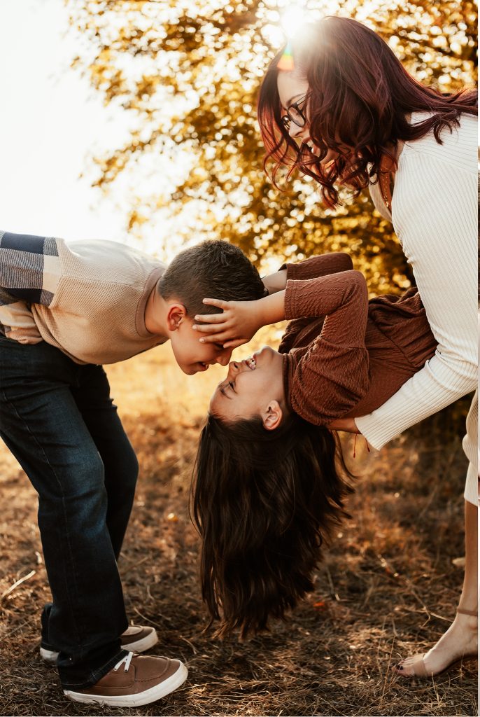
[[[413,113],[412,123],[427,115]],[[438,348],[433,359],[391,399],[355,419],[373,447],[431,416],[477,382],[477,118],[459,130],[433,133],[403,146],[395,175],[392,214],[372,186],[376,208],[393,222],[412,265]]]

